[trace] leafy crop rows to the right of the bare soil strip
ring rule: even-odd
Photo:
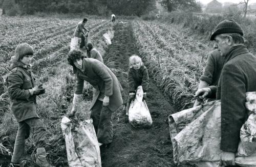
[[[159,22],[133,21],[139,53],[152,77],[176,108],[191,106],[211,48],[179,27]],[[206,58],[206,56],[205,56]]]

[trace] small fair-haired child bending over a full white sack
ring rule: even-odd
[[[142,86],[143,99],[146,99],[149,77],[147,69],[138,55],[132,55],[129,59],[128,86],[129,98],[126,103],[126,116],[129,115],[129,108],[132,100],[135,98],[138,86]]]

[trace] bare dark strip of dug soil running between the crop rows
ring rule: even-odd
[[[129,94],[127,72],[129,57],[138,54],[133,37],[131,23],[118,23],[112,45],[103,59],[111,68],[123,87],[123,104]],[[153,125],[151,128],[134,128],[125,123],[125,108],[113,115],[113,142],[101,148],[102,167],[121,166],[178,166],[173,161],[173,149],[170,142],[168,115],[176,110],[163,96],[161,90],[150,79],[150,89],[146,100]],[[189,165],[179,165],[189,166]]]

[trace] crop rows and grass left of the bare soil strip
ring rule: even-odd
[[[67,165],[67,158],[63,156],[66,155],[66,149],[63,147],[65,141],[57,119],[67,112],[73,98],[71,96],[73,96],[75,77],[72,68],[67,64],[67,53],[80,18],[0,17],[0,21],[3,23],[0,27],[0,149],[4,153],[0,155],[0,164],[5,165],[10,161],[12,152],[10,150],[13,149],[10,143],[15,141],[17,128],[17,123],[9,109],[8,95],[3,81],[15,47],[19,43],[26,42],[34,48],[31,64],[32,72],[37,78],[36,82],[42,83],[47,90],[44,95],[37,98],[37,106],[38,113],[47,128],[49,158],[50,161],[55,161],[55,164]],[[105,19],[89,19],[86,27],[90,30],[90,38],[94,46],[99,50],[106,49],[102,35],[112,30],[113,24]],[[89,94],[84,92],[84,96],[87,97]],[[33,154],[35,150],[32,140],[26,145],[28,155]],[[25,166],[32,164],[31,161]]]

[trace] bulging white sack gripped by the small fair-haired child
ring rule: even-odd
[[[143,100],[143,90],[139,86],[135,100],[131,102],[129,108],[129,122],[133,127],[151,127],[152,118],[145,100]]]

